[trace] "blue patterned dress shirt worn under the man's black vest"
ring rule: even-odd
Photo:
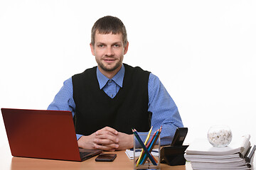
[[[122,65],[119,72],[117,72],[112,79],[108,79],[97,68],[97,80],[100,84],[100,89],[103,89],[110,98],[114,98],[119,89],[122,88],[124,71],[124,65]],[[162,126],[161,145],[170,145],[176,128],[183,127],[178,108],[164,88],[164,85],[161,84],[159,78],[151,73],[149,74],[148,92],[148,111],[152,113],[152,132]],[[71,111],[73,115],[75,115],[72,77],[64,81],[63,87],[58,94],[56,94],[53,102],[50,103],[50,106],[48,106],[48,110]],[[139,134],[147,134],[147,132],[139,132]],[[81,136],[82,135],[77,134],[77,139]]]

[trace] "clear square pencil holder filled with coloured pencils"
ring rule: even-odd
[[[160,169],[160,135],[134,135],[133,152],[134,169]]]

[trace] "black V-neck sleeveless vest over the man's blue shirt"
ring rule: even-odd
[[[92,67],[72,77],[76,133],[90,135],[105,126],[127,134],[132,134],[132,128],[149,131],[149,72],[124,64],[123,86],[110,98],[100,89],[96,69]]]

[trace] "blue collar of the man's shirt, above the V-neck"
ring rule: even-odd
[[[105,77],[105,75],[103,75],[99,68],[97,67],[97,80],[99,82],[100,85],[100,89],[102,89],[106,84],[107,81],[109,81],[110,79],[108,79],[107,77]],[[117,72],[117,74],[114,75],[114,77],[112,78],[112,80],[120,87],[122,87],[123,84],[123,80],[124,80],[124,64],[122,64],[121,69],[119,70],[119,72]]]

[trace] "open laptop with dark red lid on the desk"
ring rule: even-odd
[[[102,150],[80,149],[70,111],[1,108],[14,157],[82,162]]]

